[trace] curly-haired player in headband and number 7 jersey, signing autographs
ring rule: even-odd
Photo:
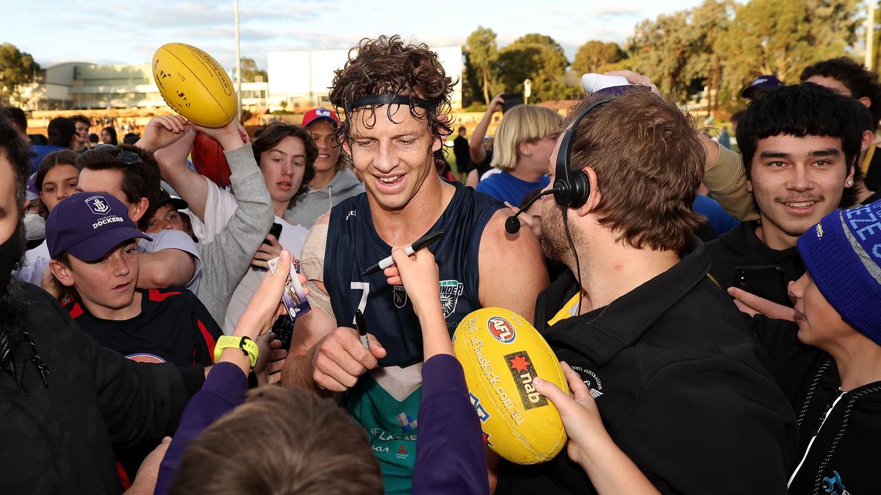
[[[283,380],[319,392],[345,392],[344,407],[368,433],[387,493],[411,491],[423,361],[421,330],[403,286],[365,275],[392,247],[443,231],[430,249],[441,276],[450,333],[480,307],[527,317],[547,284],[537,240],[509,235],[504,205],[434,170],[452,128],[453,82],[426,45],[397,36],[362,40],[337,70],[331,103],[345,116],[339,141],[366,193],[319,218],[301,267],[313,311],[297,322]],[[512,266],[512,261],[517,261]],[[364,314],[369,348],[352,329]]]

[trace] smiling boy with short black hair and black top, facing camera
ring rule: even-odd
[[[785,283],[804,273],[798,236],[830,211],[855,203],[862,135],[853,113],[842,110],[850,103],[804,83],[767,92],[747,107],[737,126],[737,146],[759,220],[707,244],[710,273],[722,288],[736,286],[737,267],[749,267],[747,276],[765,270],[777,279],[762,284],[785,293]],[[759,266],[771,268],[754,268]]]

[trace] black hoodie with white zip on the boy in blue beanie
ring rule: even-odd
[[[842,393],[833,358],[799,342],[794,323],[759,316],[753,319],[753,328],[762,346],[780,364],[781,386],[794,395],[798,413],[800,435],[792,470],[801,466],[789,484],[789,493],[881,493],[877,474],[881,381]],[[811,443],[814,436],[817,438]]]

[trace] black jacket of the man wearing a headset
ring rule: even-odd
[[[709,278],[703,245],[607,307],[544,328],[577,292],[564,275],[536,325],[588,383],[611,438],[662,493],[785,493],[796,418],[749,326]],[[503,462],[500,494],[595,493],[564,449]]]

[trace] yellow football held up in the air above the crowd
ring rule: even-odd
[[[199,48],[162,45],[153,55],[153,79],[162,99],[190,122],[219,128],[233,120],[236,98],[223,67]]]

